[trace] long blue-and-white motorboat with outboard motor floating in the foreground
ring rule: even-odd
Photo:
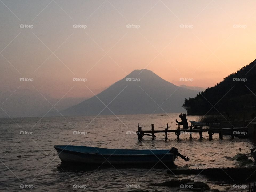
[[[170,150],[107,149],[99,147],[55,145],[59,158],[65,163],[83,163],[90,165],[155,165],[163,163],[174,165],[177,156],[185,159],[172,147]]]

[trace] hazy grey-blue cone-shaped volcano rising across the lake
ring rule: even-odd
[[[197,93],[165,81],[150,70],[134,70],[96,96],[63,110],[62,114],[118,115],[182,112],[184,99],[195,97]]]

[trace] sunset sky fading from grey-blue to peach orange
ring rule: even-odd
[[[175,85],[214,86],[256,59],[255,7],[235,0],[1,0],[0,101],[7,110],[15,95],[29,100],[33,92],[78,102],[135,69]]]

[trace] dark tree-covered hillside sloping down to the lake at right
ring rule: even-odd
[[[229,118],[255,117],[256,106],[256,60],[243,66],[217,83],[197,94],[195,98],[185,99],[183,107],[189,115],[220,114]],[[236,81],[237,80],[237,81]]]

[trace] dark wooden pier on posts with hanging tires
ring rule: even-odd
[[[203,126],[192,126],[191,125],[191,126],[189,126],[189,129],[180,129],[180,127],[178,127],[178,129],[168,129],[168,123],[167,123],[165,130],[154,130],[154,124],[151,124],[151,130],[143,131],[142,127],[138,125],[137,135],[138,135],[138,140],[142,141],[142,137],[145,135],[151,136],[152,140],[154,140],[156,137],[155,133],[165,133],[165,140],[167,140],[168,139],[167,133],[175,133],[175,135],[177,136],[177,139],[179,140],[179,136],[183,133],[188,134],[189,138],[192,139],[192,134],[199,132],[199,138],[202,139],[203,132],[208,132],[209,140],[211,140],[213,138],[214,133],[219,133],[219,139],[223,139],[223,134],[231,135],[231,139],[234,139],[235,135],[241,136],[236,133],[244,132],[247,134],[247,132],[248,132],[247,127],[223,128],[222,126],[219,126],[218,128],[216,128],[216,127],[213,127],[212,125],[205,126],[205,127],[207,127],[207,128],[203,129]],[[149,134],[149,133],[151,133],[151,134]]]

